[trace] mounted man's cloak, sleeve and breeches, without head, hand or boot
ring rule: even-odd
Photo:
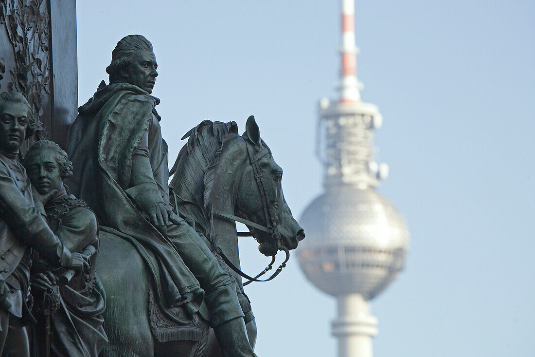
[[[68,184],[96,212],[102,230],[133,238],[158,260],[151,281],[168,317],[181,321],[177,306],[197,311],[204,289],[210,323],[217,326],[243,312],[215,256],[185,222],[171,225],[164,236],[142,213],[156,203],[170,207],[167,145],[154,110],[158,102],[131,84],[101,86],[79,109],[71,131],[68,148],[78,181]]]

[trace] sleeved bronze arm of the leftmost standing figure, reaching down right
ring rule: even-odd
[[[52,233],[33,202],[28,202],[22,195],[7,169],[5,165],[0,165],[0,211],[4,216],[2,218],[22,242],[35,248],[51,263],[63,266],[70,264],[71,252]]]

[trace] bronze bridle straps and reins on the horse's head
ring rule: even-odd
[[[238,267],[236,267],[231,261],[230,259],[228,259],[225,254],[223,253],[223,251],[221,251],[221,248],[219,248],[219,246],[217,246],[216,244],[216,251],[218,252],[218,254],[221,256],[221,258],[223,258],[223,261],[228,265],[228,267],[230,267],[235,273],[237,273],[239,276],[241,276],[242,278],[245,278],[245,279],[248,279],[248,281],[244,282],[243,283],[243,286],[246,286],[248,284],[250,284],[251,282],[253,281],[258,281],[258,282],[263,282],[263,281],[270,281],[270,280],[273,280],[275,277],[278,276],[278,274],[282,271],[282,269],[284,267],[286,267],[286,263],[288,262],[288,259],[290,258],[290,252],[288,251],[288,248],[286,248],[285,246],[282,246],[282,244],[280,244],[280,233],[279,233],[279,228],[277,227],[277,221],[276,221],[276,217],[283,211],[287,210],[288,209],[288,204],[285,202],[283,203],[282,205],[278,205],[276,204],[276,206],[274,207],[275,210],[272,209],[272,207],[269,205],[269,200],[268,200],[268,189],[267,189],[267,185],[265,184],[264,180],[264,176],[260,170],[260,167],[258,165],[258,160],[262,159],[265,155],[267,154],[271,154],[271,151],[267,148],[267,147],[263,147],[261,151],[259,152],[255,152],[254,151],[254,148],[247,142],[247,140],[245,140],[246,142],[246,147],[247,147],[247,155],[249,157],[249,163],[251,165],[251,168],[253,168],[253,174],[255,176],[255,181],[256,181],[256,185],[258,187],[258,190],[260,192],[260,197],[262,199],[262,207],[263,207],[263,211],[264,211],[264,218],[265,218],[265,221],[268,222],[268,226],[262,226],[262,225],[259,225],[255,222],[251,222],[247,219],[244,219],[244,218],[241,218],[241,217],[238,217],[234,214],[230,214],[230,213],[226,213],[226,212],[212,212],[213,216],[217,216],[217,217],[220,217],[220,218],[224,218],[224,219],[228,219],[228,220],[231,220],[231,221],[235,221],[235,222],[240,222],[244,225],[247,225],[253,229],[257,229],[257,230],[261,230],[262,232],[265,232],[265,233],[268,233],[268,234],[271,234],[271,236],[273,237],[273,239],[277,242],[277,251],[279,250],[284,250],[285,254],[286,254],[286,258],[284,259],[284,262],[282,262],[282,264],[277,268],[277,270],[268,278],[268,279],[264,279],[264,280],[259,280],[258,278],[263,276],[266,272],[270,271],[273,269],[273,263],[275,262],[275,257],[277,255],[277,251],[275,252],[274,255],[271,256],[271,263],[265,267],[265,269],[260,272],[259,274],[257,274],[256,277],[250,277],[248,276],[246,273],[242,272]],[[253,235],[251,233],[242,233],[242,232],[239,232],[238,233],[238,236],[245,236],[245,235]]]

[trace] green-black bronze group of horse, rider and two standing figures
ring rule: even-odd
[[[234,122],[204,121],[188,131],[170,191],[159,100],[151,96],[156,68],[147,39],[121,39],[106,69],[110,84],[101,83],[72,125],[72,166],[55,143],[36,143],[24,159],[33,186],[17,159],[35,120],[20,94],[0,95],[19,100],[14,106],[0,100],[7,113],[0,122],[0,178],[6,177],[0,184],[7,187],[0,193],[0,222],[9,233],[0,236],[0,248],[18,249],[18,260],[5,259],[11,265],[0,272],[0,352],[8,325],[33,320],[33,258],[33,311],[40,321],[29,329],[34,355],[256,356],[242,277],[276,277],[303,229],[252,116],[242,136]],[[10,205],[24,217],[13,219]],[[236,221],[249,232],[236,232]],[[237,235],[253,236],[272,257],[254,278],[241,272]],[[265,278],[277,251],[286,259]],[[27,330],[10,328],[4,351],[28,355]]]

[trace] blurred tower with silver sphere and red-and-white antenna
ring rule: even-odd
[[[356,76],[355,0],[342,0],[340,99],[319,102],[317,154],[325,168],[325,192],[305,209],[307,232],[298,250],[305,276],[338,300],[332,334],[339,357],[371,357],[377,318],[369,300],[403,267],[409,233],[400,213],[379,195],[388,165],[373,161],[379,108],[361,101]]]

